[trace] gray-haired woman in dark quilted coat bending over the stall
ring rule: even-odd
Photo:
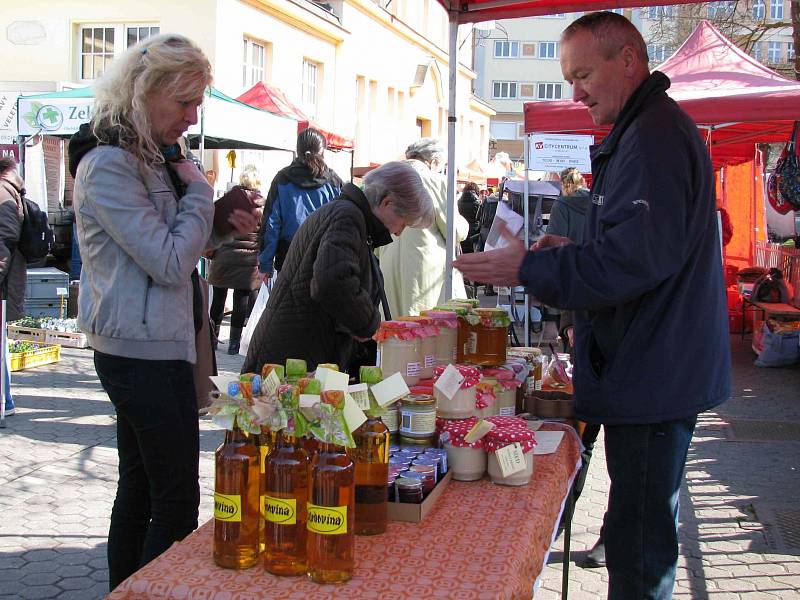
[[[352,368],[380,323],[382,282],[373,250],[391,243],[391,234],[432,222],[430,196],[405,163],[370,171],[363,190],[345,184],[297,231],[242,372],[287,358],[304,359],[309,369]]]

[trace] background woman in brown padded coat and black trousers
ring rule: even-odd
[[[253,165],[246,166],[239,177],[239,185],[233,186],[225,196],[238,194],[245,196],[249,204],[259,209],[264,207],[264,198],[258,191],[261,180]],[[224,197],[220,199],[223,201]],[[208,283],[214,287],[211,300],[211,320],[214,334],[219,337],[219,327],[225,310],[228,290],[233,290],[233,314],[228,339],[228,354],[239,353],[242,327],[250,315],[255,296],[261,285],[258,274],[258,227],[250,233],[237,233],[230,242],[217,248],[211,256]]]

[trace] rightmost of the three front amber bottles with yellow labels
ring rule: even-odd
[[[341,583],[353,576],[354,526],[353,461],[342,446],[323,443],[311,463],[308,576],[312,581]]]

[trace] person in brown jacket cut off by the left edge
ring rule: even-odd
[[[27,260],[17,250],[22,231],[24,195],[25,183],[17,173],[17,161],[12,157],[0,158],[0,290],[6,300],[7,321],[20,319],[24,314]],[[16,412],[11,396],[11,364],[8,348],[3,348],[2,352],[5,361],[2,382],[6,397],[5,414],[11,416]]]

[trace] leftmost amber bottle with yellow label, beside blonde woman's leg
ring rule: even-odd
[[[234,424],[215,461],[214,562],[247,569],[258,562],[259,450]]]

